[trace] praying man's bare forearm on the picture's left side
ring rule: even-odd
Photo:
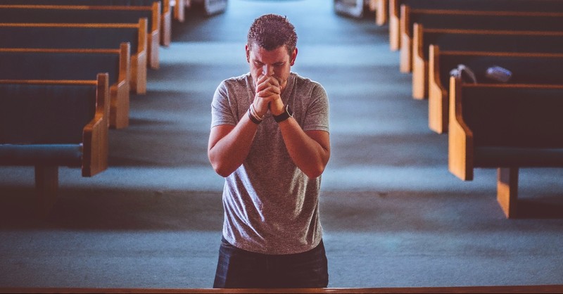
[[[217,174],[227,177],[239,168],[251,150],[258,124],[243,115],[236,126],[221,124],[211,128],[208,158]]]

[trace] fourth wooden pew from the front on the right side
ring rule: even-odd
[[[412,27],[460,30],[563,32],[562,12],[450,11],[410,9],[401,6],[400,72],[412,71]]]

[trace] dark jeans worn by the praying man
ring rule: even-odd
[[[328,283],[322,241],[304,253],[265,255],[236,248],[223,238],[213,288],[326,288]]]

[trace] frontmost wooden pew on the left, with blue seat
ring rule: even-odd
[[[0,165],[34,166],[37,209],[56,201],[58,167],[108,167],[108,75],[89,81],[0,80]]]

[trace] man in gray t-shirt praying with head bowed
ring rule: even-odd
[[[321,174],[330,157],[329,105],[291,72],[295,28],[262,15],[248,32],[250,72],[213,97],[208,157],[225,177],[215,288],[324,288]]]

